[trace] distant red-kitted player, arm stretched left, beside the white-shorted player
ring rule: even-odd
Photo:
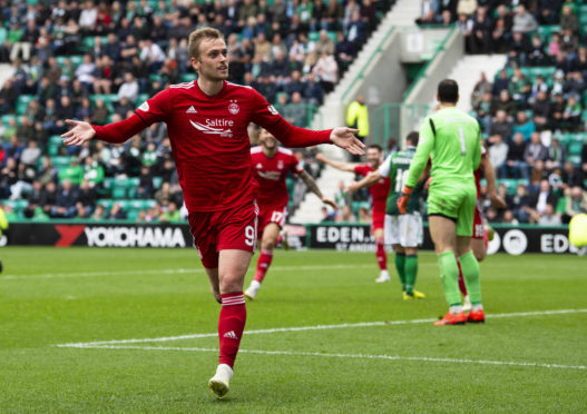
[[[368,164],[350,164],[340,162],[327,159],[324,155],[319,154],[316,159],[327,164],[331,167],[340,169],[341,171],[355,172],[361,176],[366,176],[371,171],[375,171],[382,159],[382,149],[379,145],[370,145],[366,149],[366,161]],[[390,180],[388,177],[382,178],[378,183],[369,187],[371,193],[372,206],[372,218],[371,218],[371,231],[375,236],[376,245],[376,259],[380,268],[380,275],[375,279],[378,283],[389,282],[390,276],[388,273],[388,256],[385,254],[384,240],[383,240],[383,224],[385,221],[385,204],[388,201],[388,193],[390,190]]]

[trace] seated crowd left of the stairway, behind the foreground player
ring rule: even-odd
[[[120,146],[66,149],[63,120],[117,121],[169,85],[193,80],[187,38],[211,26],[227,39],[229,80],[253,86],[291,124],[306,126],[390,6],[2,0],[0,62],[13,76],[0,90],[0,199],[12,201],[6,207],[17,217],[177,220],[183,197],[165,125]],[[312,151],[296,156],[315,176]],[[304,186],[291,188],[300,203]]]

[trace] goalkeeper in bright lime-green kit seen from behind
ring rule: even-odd
[[[449,312],[434,325],[485,322],[479,264],[470,244],[477,203],[473,171],[481,159],[481,132],[475,118],[456,108],[459,86],[454,80],[444,79],[438,85],[437,99],[439,110],[427,117],[420,127],[420,141],[398,208],[401,214],[407,211],[410,195],[430,158],[428,220],[449,304]],[[459,257],[472,304],[469,314],[462,310],[454,254]]]

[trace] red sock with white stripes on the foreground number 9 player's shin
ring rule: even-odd
[[[241,337],[245,329],[246,307],[242,292],[223,294],[221,316],[218,318],[218,339],[221,342],[221,358],[218,364],[233,367],[238,353]]]

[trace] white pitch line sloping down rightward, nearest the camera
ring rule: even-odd
[[[139,349],[139,351],[182,351],[182,352],[214,352],[216,348],[193,348],[193,347],[172,347],[172,346],[115,346],[115,345],[91,345],[85,346],[91,349]],[[428,356],[399,356],[399,355],[371,355],[371,354],[326,354],[320,352],[296,352],[296,351],[262,351],[262,349],[239,349],[239,354],[257,355],[287,355],[287,356],[321,356],[334,358],[359,358],[359,359],[388,359],[388,361],[418,361],[436,362],[450,364],[477,364],[477,365],[505,365],[505,366],[525,366],[536,368],[559,368],[559,369],[587,369],[585,365],[561,365],[544,364],[534,362],[515,362],[515,361],[490,361],[490,359],[462,359],[462,358],[439,358]]]

